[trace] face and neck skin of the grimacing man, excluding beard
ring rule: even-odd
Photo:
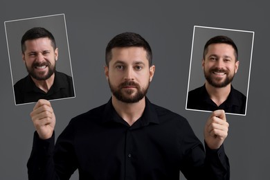
[[[48,37],[42,37],[38,39],[27,40],[25,45],[26,51],[22,53],[22,60],[28,69],[32,68],[34,62],[39,64],[50,62],[52,66],[55,66],[55,62],[58,58],[58,49],[53,49],[53,46],[51,45],[51,39]],[[34,72],[40,76],[44,76],[48,73],[48,66],[36,66],[34,68]],[[48,90],[53,85],[54,77],[54,73],[50,78],[46,80],[37,80],[31,76],[35,82],[35,85],[45,92],[48,92]]]

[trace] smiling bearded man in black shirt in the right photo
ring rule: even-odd
[[[237,46],[232,39],[222,35],[209,39],[202,60],[206,82],[188,92],[187,108],[245,114],[246,96],[231,84],[239,64]]]

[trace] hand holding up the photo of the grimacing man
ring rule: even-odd
[[[47,139],[53,135],[55,114],[48,100],[39,100],[30,113],[39,138]]]

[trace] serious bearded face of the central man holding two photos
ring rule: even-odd
[[[145,97],[154,69],[154,66],[149,67],[144,48],[112,48],[105,75],[117,100],[134,103]]]

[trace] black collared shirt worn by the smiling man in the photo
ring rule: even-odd
[[[224,109],[226,113],[245,114],[246,111],[246,96],[240,91],[231,86],[231,91],[228,98],[217,106],[213,100],[210,99],[206,86],[198,87],[188,92],[187,109],[197,109],[205,111],[215,111],[217,109]]]

